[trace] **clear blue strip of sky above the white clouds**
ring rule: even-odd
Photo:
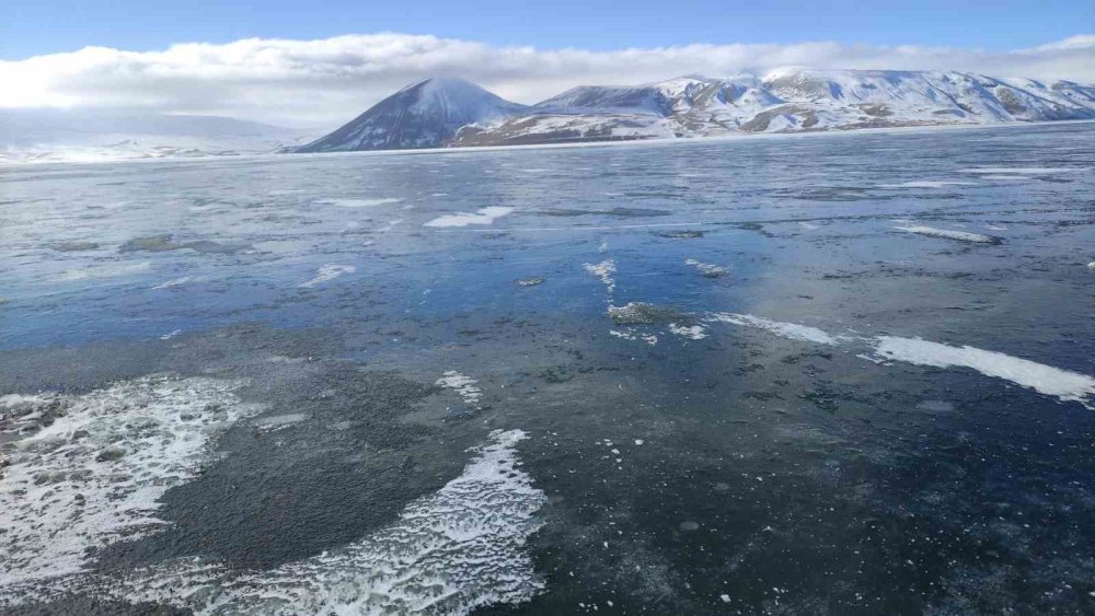
[[[590,50],[803,40],[1010,50],[1092,31],[1092,0],[3,0],[0,58],[377,32]]]

